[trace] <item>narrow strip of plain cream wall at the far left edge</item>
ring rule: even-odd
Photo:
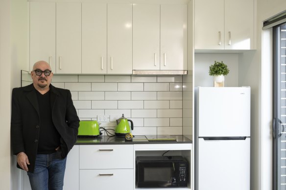
[[[10,189],[10,4],[0,0],[0,189]]]

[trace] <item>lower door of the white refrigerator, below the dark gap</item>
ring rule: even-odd
[[[198,140],[196,190],[250,190],[250,138]]]

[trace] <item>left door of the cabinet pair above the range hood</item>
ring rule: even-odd
[[[160,5],[133,4],[133,70],[160,69]]]

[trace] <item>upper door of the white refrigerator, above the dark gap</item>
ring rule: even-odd
[[[198,136],[250,136],[250,87],[199,87]]]

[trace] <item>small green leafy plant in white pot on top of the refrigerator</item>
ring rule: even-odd
[[[209,75],[214,76],[214,81],[216,83],[222,83],[224,81],[224,76],[229,73],[227,65],[221,62],[216,62],[210,66]]]

